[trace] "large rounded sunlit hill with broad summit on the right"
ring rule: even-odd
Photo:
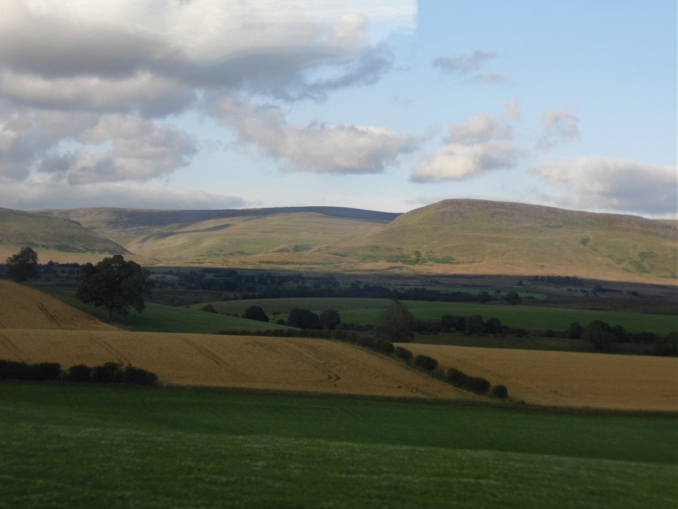
[[[347,259],[449,273],[676,279],[678,229],[638,216],[444,200],[336,244]]]

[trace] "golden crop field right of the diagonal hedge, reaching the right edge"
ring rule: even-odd
[[[445,369],[503,384],[512,399],[559,407],[678,411],[678,360],[651,356],[403,345]]]

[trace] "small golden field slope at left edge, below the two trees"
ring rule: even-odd
[[[92,315],[21,284],[0,280],[0,329],[47,328],[66,331],[117,331]]]

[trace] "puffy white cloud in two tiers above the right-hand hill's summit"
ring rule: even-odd
[[[445,145],[411,170],[416,183],[463,181],[487,171],[513,168],[526,151],[506,140],[513,138],[512,119],[520,117],[517,100],[504,104],[504,113],[475,113],[459,124],[450,124]]]

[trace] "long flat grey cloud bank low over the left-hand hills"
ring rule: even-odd
[[[241,208],[240,197],[177,189],[159,185],[98,183],[72,186],[66,182],[24,181],[0,186],[0,202],[5,208],[129,207],[163,209]]]

